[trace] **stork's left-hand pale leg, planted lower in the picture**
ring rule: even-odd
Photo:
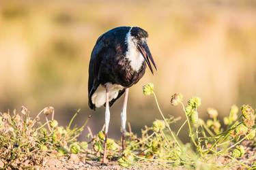
[[[105,140],[104,140],[104,154],[103,154],[102,163],[106,163],[106,141],[107,141],[107,139],[108,139],[109,120],[110,120],[110,111],[109,111],[109,87],[106,85]]]

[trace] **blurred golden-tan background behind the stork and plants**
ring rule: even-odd
[[[233,104],[256,99],[256,1],[0,1],[0,110],[37,114],[55,107],[67,124],[81,108],[77,124],[93,114],[96,133],[104,108],[87,105],[88,64],[96,39],[119,26],[139,26],[158,65],[132,86],[128,122],[139,132],[160,118],[141,87],[153,82],[165,114],[184,116],[169,103],[174,92],[202,99],[199,116],[215,107],[220,116]],[[123,98],[122,98],[123,99]],[[122,99],[111,107],[111,137],[119,137]],[[182,121],[180,121],[181,123]],[[176,129],[178,126],[174,126]]]

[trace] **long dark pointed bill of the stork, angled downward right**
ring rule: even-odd
[[[150,52],[150,48],[148,48],[146,43],[143,43],[143,44],[138,44],[138,50],[139,52],[141,52],[142,56],[144,57],[148,67],[150,67],[150,71],[152,72],[152,74],[154,74],[151,63],[154,65],[156,70],[157,68],[156,68],[156,63],[154,62],[154,59]]]

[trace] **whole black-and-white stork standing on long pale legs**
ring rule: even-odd
[[[143,77],[147,65],[152,74],[152,64],[156,69],[147,46],[147,37],[147,31],[139,27],[117,27],[101,35],[91,52],[88,80],[89,107],[94,110],[102,105],[106,107],[103,163],[106,163],[109,107],[125,93],[121,112],[122,149],[124,150],[129,88]]]

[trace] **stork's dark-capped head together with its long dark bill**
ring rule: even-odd
[[[137,46],[139,52],[141,52],[141,55],[145,59],[145,62],[147,63],[148,67],[150,67],[150,71],[154,73],[151,63],[154,65],[156,70],[157,68],[153,56],[150,52],[150,48],[147,46],[147,31],[139,27],[132,27],[132,29],[130,30],[130,35],[132,37],[133,43],[135,44],[135,46]]]

